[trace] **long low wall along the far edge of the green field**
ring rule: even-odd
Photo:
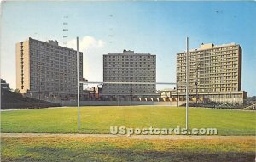
[[[178,102],[179,105],[185,103]],[[77,101],[62,101],[62,106],[77,106]],[[129,105],[166,105],[177,106],[177,102],[156,102],[156,101],[80,101],[80,106],[129,106]]]

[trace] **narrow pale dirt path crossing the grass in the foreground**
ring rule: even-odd
[[[130,137],[112,134],[52,134],[52,133],[1,133],[1,137],[117,137],[132,139],[251,139],[256,140],[255,136],[186,136],[186,135],[131,135]]]

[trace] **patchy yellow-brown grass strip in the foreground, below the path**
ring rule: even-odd
[[[2,137],[1,161],[254,161],[255,139]]]

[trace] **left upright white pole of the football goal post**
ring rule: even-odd
[[[77,75],[78,75],[78,127],[80,130],[79,37],[77,37]]]

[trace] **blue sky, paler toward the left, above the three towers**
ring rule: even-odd
[[[156,55],[157,82],[176,81],[176,54],[201,43],[242,48],[242,90],[256,95],[256,3],[253,1],[10,1],[1,3],[1,78],[15,88],[15,43],[28,37],[84,53],[84,77],[102,81],[102,55]],[[67,25],[63,25],[67,23]],[[67,29],[68,31],[63,31]],[[68,36],[63,38],[63,36]]]

